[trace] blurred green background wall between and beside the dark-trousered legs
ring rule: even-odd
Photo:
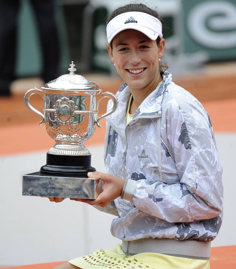
[[[56,6],[56,19],[60,38],[61,63],[60,71],[69,67],[69,52],[66,38],[64,16],[61,6]],[[33,10],[28,0],[21,0],[18,16],[17,77],[38,76],[41,73],[42,59],[38,31]],[[45,42],[48,42],[45,40]],[[67,67],[68,66],[68,67]]]

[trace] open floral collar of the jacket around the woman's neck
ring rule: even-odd
[[[144,99],[141,105],[138,107],[133,119],[140,116],[153,116],[155,114],[160,114],[161,112],[161,101],[163,93],[166,91],[167,85],[171,82],[172,76],[170,73],[166,72],[163,75],[163,82],[156,88],[149,96]],[[130,90],[125,82],[119,88],[119,91],[116,94],[118,98],[119,105],[114,113],[106,117],[106,119],[112,123],[117,129],[120,129],[124,133],[126,127],[126,108],[127,102],[129,100]]]

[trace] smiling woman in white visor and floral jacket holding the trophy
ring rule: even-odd
[[[207,112],[163,71],[161,30],[144,4],[108,19],[107,50],[125,81],[107,117],[108,174],[88,173],[104,181],[97,199],[72,200],[119,216],[111,233],[122,245],[58,268],[209,268],[222,222],[221,163]]]

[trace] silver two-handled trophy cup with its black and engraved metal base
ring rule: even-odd
[[[75,74],[73,62],[65,74],[45,84],[41,89],[26,92],[24,102],[42,117],[48,135],[55,145],[47,152],[47,163],[40,171],[23,175],[22,195],[95,199],[103,191],[99,178],[88,178],[91,153],[84,146],[90,139],[99,120],[112,114],[118,106],[116,96],[101,93],[98,85]],[[44,98],[44,114],[33,108],[29,99],[33,94]],[[98,117],[98,104],[104,97],[113,101],[113,107]]]

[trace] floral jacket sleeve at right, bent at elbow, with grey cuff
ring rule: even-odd
[[[167,185],[128,179],[123,191],[139,210],[168,222],[210,219],[223,210],[222,167],[208,114],[200,104],[185,109],[172,106],[166,122],[179,180]]]

